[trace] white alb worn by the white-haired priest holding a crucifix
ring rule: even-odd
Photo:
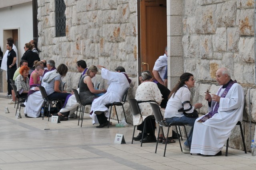
[[[222,87],[220,87],[222,88]],[[221,96],[225,88],[221,89]],[[212,101],[209,111],[214,109],[217,102]],[[226,143],[231,130],[238,121],[242,121],[244,110],[244,91],[238,83],[234,83],[225,98],[220,98],[218,113],[203,123],[196,119],[193,130],[190,153],[215,155]]]

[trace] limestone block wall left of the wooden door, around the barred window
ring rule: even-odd
[[[112,71],[117,66],[124,66],[128,76],[136,76],[138,74],[137,1],[64,0],[64,2],[66,36],[55,37],[55,0],[38,0],[37,18],[38,46],[42,50],[40,58],[53,59],[56,66],[61,63],[68,66],[69,71],[64,78],[67,82],[66,90],[77,87],[80,78],[80,73],[76,70],[78,60],[85,60],[88,66],[100,64]],[[100,72],[94,81],[102,81],[100,87],[107,88]],[[127,103],[125,107],[128,106]],[[121,109],[117,108],[121,113]]]

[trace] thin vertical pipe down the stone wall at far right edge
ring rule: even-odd
[[[256,86],[256,0],[254,0],[254,86]],[[250,97],[250,90],[254,87],[252,86],[249,89],[248,95],[249,95],[249,121],[250,121],[250,142],[252,141],[252,101]]]

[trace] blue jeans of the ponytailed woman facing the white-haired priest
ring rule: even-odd
[[[188,124],[188,126],[192,126],[190,133],[188,135],[188,139],[186,140],[186,142],[184,143],[184,145],[186,145],[188,147],[188,142],[191,145],[192,142],[192,135],[193,135],[193,129],[194,129],[194,123],[196,121],[197,118],[188,118],[186,116],[182,116],[182,117],[172,117],[172,118],[165,118],[167,123],[185,123]]]

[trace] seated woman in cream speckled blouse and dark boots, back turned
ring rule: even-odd
[[[135,99],[139,102],[140,114],[133,116],[133,124],[137,126],[137,130],[142,131],[144,127],[144,120],[146,117],[153,115],[152,108],[149,101],[155,101],[158,105],[162,102],[162,94],[158,89],[156,83],[152,82],[152,75],[149,72],[142,72],[141,74],[141,84],[138,86],[135,94]],[[156,142],[155,137],[155,120],[148,119],[146,121],[146,127],[144,130],[144,139],[142,139],[142,134],[140,133],[133,140],[142,140],[143,143]]]

